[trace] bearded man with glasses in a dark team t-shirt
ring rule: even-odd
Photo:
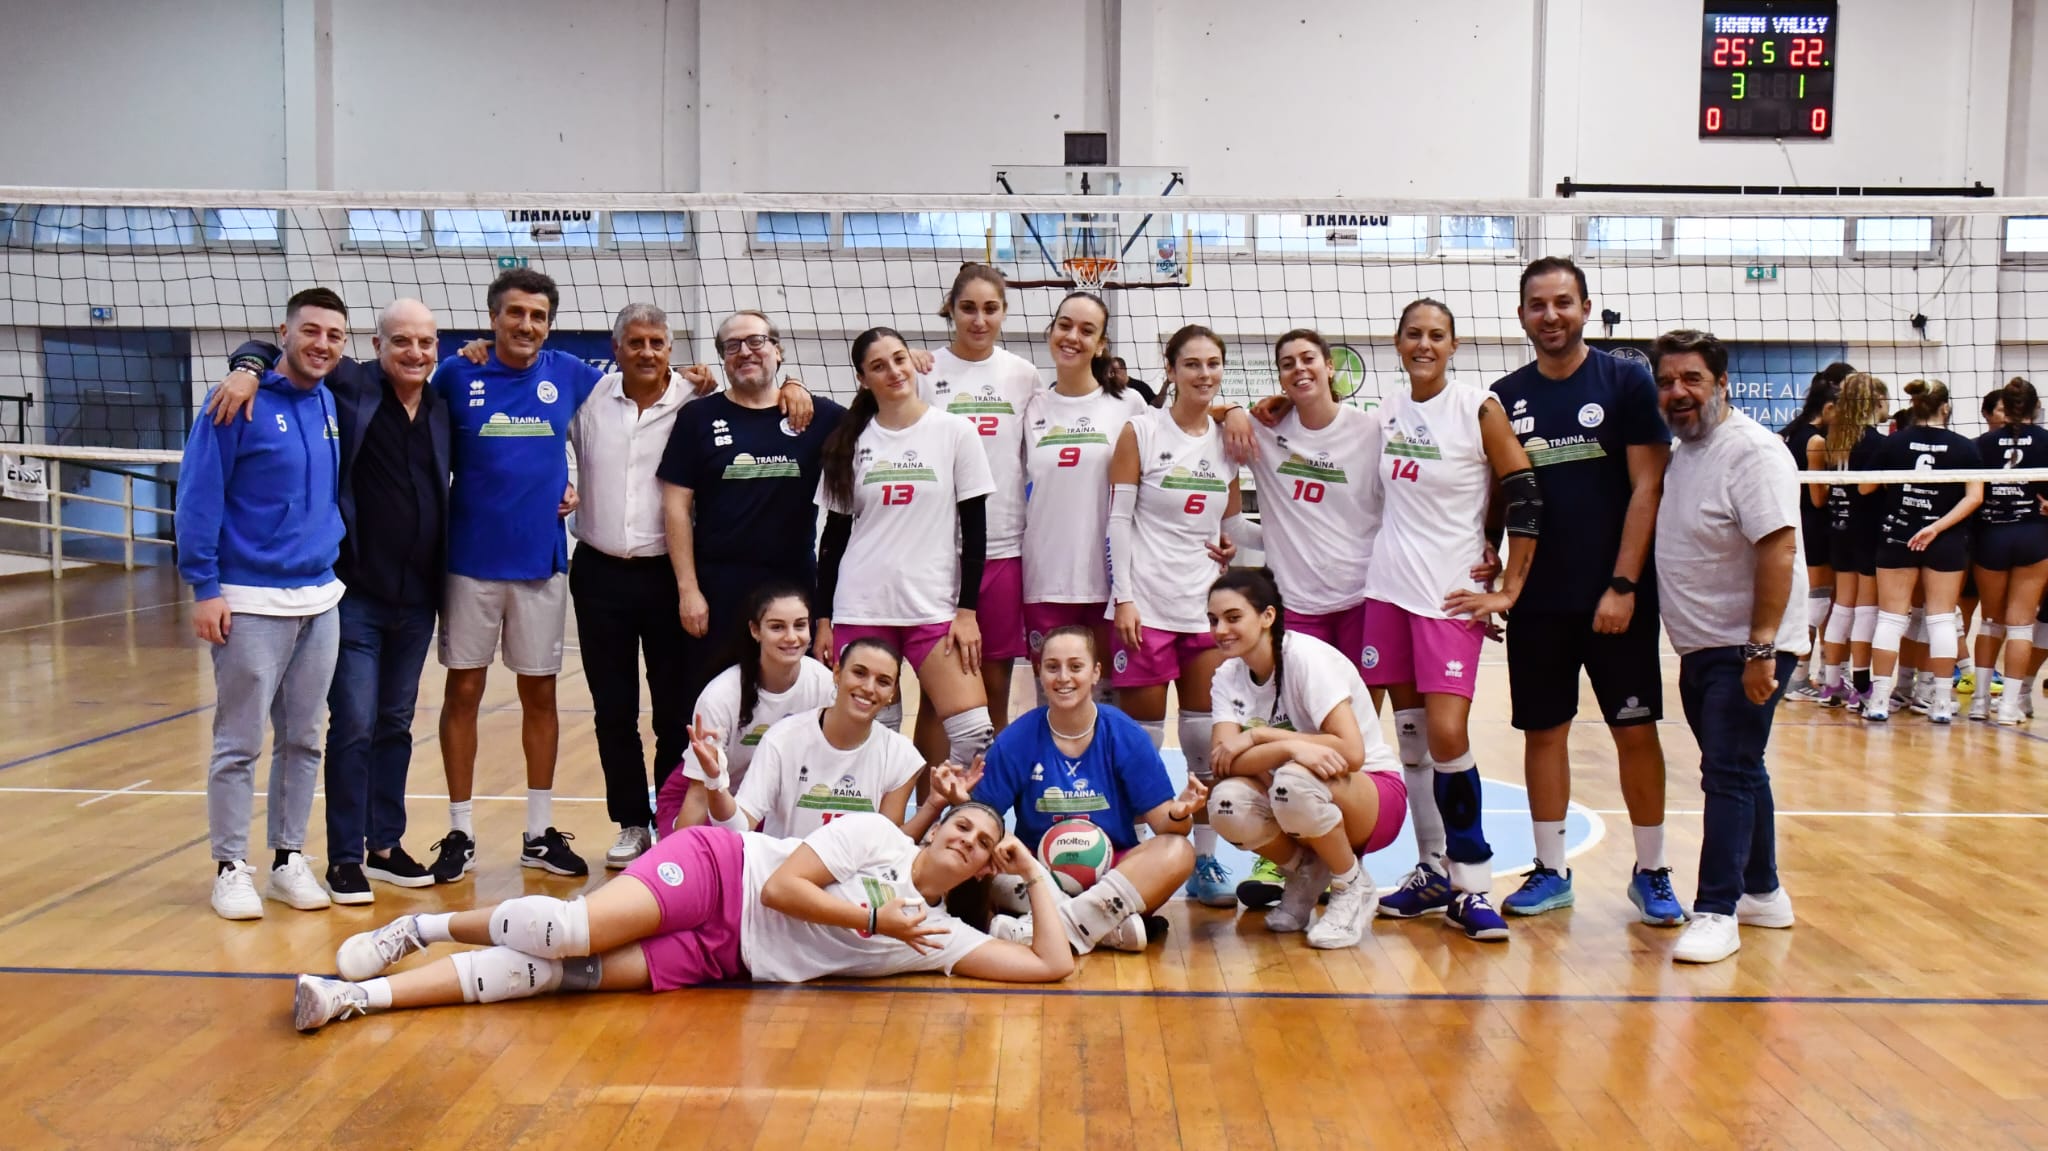
[[[725,391],[676,416],[662,477],[668,555],[688,653],[680,700],[696,702],[731,657],[745,598],[786,582],[817,584],[819,453],[846,410],[817,397],[809,424],[778,408],[782,336],[741,309],[719,324]],[[655,762],[655,788],[676,762]]]

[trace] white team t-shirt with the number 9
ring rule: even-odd
[[[1110,567],[1110,457],[1116,436],[1145,412],[1137,393],[1044,389],[1024,416],[1024,602],[1106,604]]]

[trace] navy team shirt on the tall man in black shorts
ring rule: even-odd
[[[1638,363],[1587,348],[1569,377],[1550,379],[1530,363],[1495,383],[1493,395],[1542,485],[1542,539],[1516,610],[1591,612],[1622,551],[1634,494],[1628,449],[1671,442],[1657,412],[1657,381]],[[1638,610],[1657,610],[1655,580],[1645,553]]]

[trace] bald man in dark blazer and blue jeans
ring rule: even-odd
[[[342,555],[334,569],[342,649],[328,688],[328,887],[336,903],[371,903],[369,881],[428,887],[406,854],[406,772],[412,709],[434,641],[446,580],[449,406],[426,387],[438,360],[434,313],[397,299],[377,317],[377,360],[344,358],[328,375],[342,436],[336,502]],[[236,348],[207,412],[248,412],[268,344]]]

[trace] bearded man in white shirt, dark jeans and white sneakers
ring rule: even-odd
[[[1671,958],[1716,963],[1743,946],[1739,924],[1792,926],[1763,748],[1806,651],[1806,621],[1786,612],[1806,594],[1800,485],[1778,436],[1729,408],[1720,340],[1665,332],[1651,363],[1677,434],[1657,512],[1657,565],[1686,573],[1665,588],[1663,621],[1706,793],[1700,895]]]

